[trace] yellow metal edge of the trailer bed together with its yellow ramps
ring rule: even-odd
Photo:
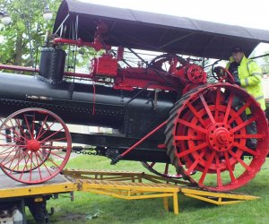
[[[178,194],[184,194],[204,202],[217,205],[231,204],[258,197],[237,194],[217,193],[201,190],[189,185],[188,182],[145,174],[143,172],[119,172],[65,169],[63,175],[59,175],[62,181],[54,183],[48,181],[42,185],[15,185],[1,188],[1,199],[37,196],[44,194],[72,193],[74,191],[105,194],[126,200],[138,200],[149,198],[162,198],[166,211],[169,211],[169,198],[173,201],[173,211],[178,214]]]

